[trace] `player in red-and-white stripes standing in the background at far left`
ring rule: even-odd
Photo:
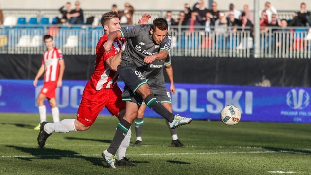
[[[37,87],[38,79],[44,73],[44,85],[39,93],[36,102],[39,108],[40,123],[46,121],[46,107],[44,100],[47,98],[52,110],[52,117],[54,122],[59,122],[59,109],[56,104],[56,88],[62,86],[62,79],[65,70],[65,62],[63,60],[62,52],[54,47],[53,37],[51,35],[44,35],[43,41],[47,47],[47,51],[43,53],[43,60],[40,69],[38,70],[34,86]],[[34,128],[39,130],[40,124]]]

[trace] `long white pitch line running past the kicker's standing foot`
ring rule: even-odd
[[[132,156],[158,156],[158,155],[204,155],[204,154],[259,154],[276,153],[275,151],[251,151],[251,152],[204,152],[204,153],[145,153],[145,154],[127,154]],[[25,155],[25,156],[0,156],[0,158],[12,157],[76,157],[76,156],[100,156],[100,154],[72,154],[72,155]]]

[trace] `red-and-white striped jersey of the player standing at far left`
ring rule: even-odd
[[[50,51],[44,51],[42,60],[42,64],[45,66],[44,82],[58,80],[58,61],[61,59],[63,59],[63,54],[59,49],[55,47]]]

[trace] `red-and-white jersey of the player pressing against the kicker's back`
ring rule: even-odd
[[[107,35],[102,35],[96,46],[95,70],[90,80],[93,88],[96,90],[112,88],[119,77],[117,72],[110,70],[109,66],[106,64],[106,60],[119,53],[124,43],[124,39],[116,39],[113,42],[110,51],[105,53],[103,45],[107,42],[107,39]]]

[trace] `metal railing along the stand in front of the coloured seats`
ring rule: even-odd
[[[253,31],[238,28],[236,32],[206,32],[196,27],[172,26],[172,56],[191,57],[252,57]],[[55,46],[66,55],[93,55],[104,34],[102,27],[83,26],[15,26],[0,28],[0,53],[41,54],[45,50],[42,36],[54,37]],[[260,34],[262,58],[311,58],[311,29],[269,28]]]

